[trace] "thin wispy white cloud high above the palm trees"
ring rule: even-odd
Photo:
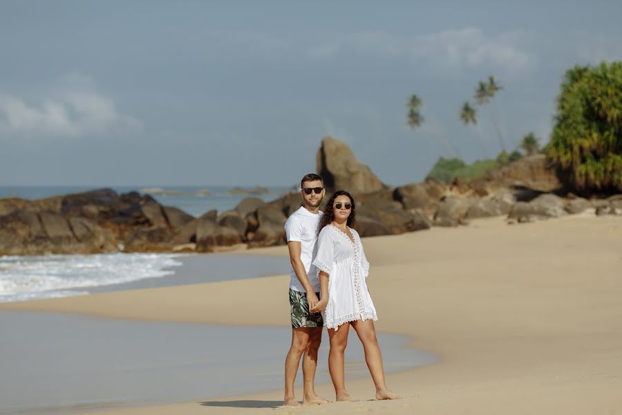
[[[531,71],[536,55],[522,50],[512,33],[489,37],[478,28],[444,30],[415,37],[384,31],[355,33],[312,46],[312,59],[330,59],[343,53],[403,58],[413,65],[436,68],[494,66],[511,73]]]

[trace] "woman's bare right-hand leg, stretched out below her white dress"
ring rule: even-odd
[[[384,381],[384,368],[382,367],[382,355],[376,338],[376,329],[373,320],[357,320],[352,322],[352,327],[357,331],[363,349],[365,362],[376,385],[376,399],[400,399],[402,396],[388,390]],[[331,344],[332,349],[332,344]]]

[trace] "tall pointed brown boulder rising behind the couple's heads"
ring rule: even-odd
[[[331,137],[322,140],[317,152],[316,167],[328,190],[368,193],[387,188],[346,144]]]

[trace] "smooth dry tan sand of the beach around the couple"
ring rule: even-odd
[[[357,403],[275,409],[283,397],[276,390],[106,413],[622,412],[621,216],[582,214],[521,225],[493,218],[363,243],[377,330],[412,336],[412,347],[440,358],[435,365],[388,375],[388,386],[403,400],[368,400],[374,389],[366,377],[346,378],[350,394],[361,399]],[[249,253],[287,261],[284,246]],[[0,304],[0,310],[287,326],[288,278],[42,299]],[[330,384],[317,391],[334,399]]]

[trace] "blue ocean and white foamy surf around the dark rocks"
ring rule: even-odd
[[[95,188],[97,187],[0,187],[0,199],[6,197],[44,199]],[[125,193],[148,190],[149,186],[112,188],[115,192]],[[247,196],[270,201],[287,191],[285,187],[267,187],[266,194],[229,194],[232,187],[222,186],[176,186],[165,187],[162,190],[164,193],[152,194],[154,199],[162,205],[174,206],[194,216],[200,216],[213,209],[218,212],[230,210]],[[209,194],[204,192],[205,190],[209,191]],[[147,285],[157,286],[169,281],[164,277],[174,276],[176,268],[183,264],[182,259],[188,256],[140,253],[4,256],[0,257],[0,302],[85,295],[111,291],[115,287],[134,288],[138,282],[149,282]],[[213,258],[216,260],[218,256]],[[255,259],[255,264],[261,261],[263,260]],[[232,269],[229,266],[225,268]],[[280,273],[288,272],[286,269],[277,269]],[[234,275],[230,277],[234,278]],[[205,281],[198,279],[196,282]]]

